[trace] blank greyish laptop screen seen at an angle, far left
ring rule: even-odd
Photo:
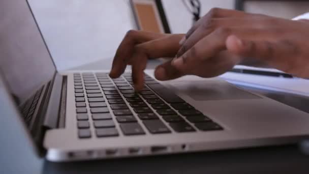
[[[56,71],[26,0],[0,1],[0,70],[18,105]]]

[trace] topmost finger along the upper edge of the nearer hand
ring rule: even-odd
[[[184,43],[184,41],[186,39],[188,39],[195,32],[195,30],[197,30],[197,28],[200,27],[201,24],[209,21],[212,18],[241,17],[241,16],[244,16],[244,15],[246,15],[246,13],[244,13],[242,11],[213,8],[204,17],[202,17],[200,20],[198,20],[193,25],[192,28],[190,28],[190,30],[187,32],[186,36],[184,37],[182,43]]]

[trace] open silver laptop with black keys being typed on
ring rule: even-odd
[[[271,146],[309,135],[308,113],[221,78],[157,81],[146,70],[136,94],[130,71],[116,79],[109,70],[59,72],[27,1],[1,1],[0,13],[0,112],[8,120],[0,129],[47,160]]]

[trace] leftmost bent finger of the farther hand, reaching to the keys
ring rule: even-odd
[[[133,55],[133,48],[135,45],[165,36],[167,35],[143,32],[143,31],[131,30],[127,32],[125,38],[123,38],[119,47],[117,48],[112,63],[112,68],[109,74],[110,77],[117,78],[125,71],[128,62],[130,61],[131,56]]]

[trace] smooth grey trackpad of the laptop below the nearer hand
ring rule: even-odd
[[[238,100],[260,99],[261,97],[240,90],[223,80],[175,81],[170,83],[180,93],[194,100]]]

